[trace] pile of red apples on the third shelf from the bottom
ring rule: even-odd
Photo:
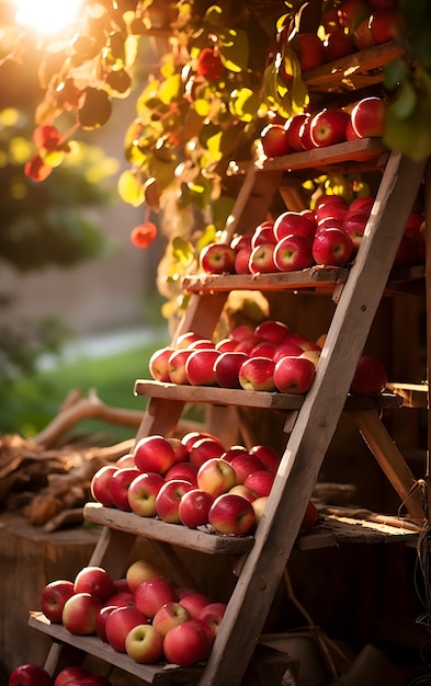
[[[186,332],[151,355],[149,371],[162,382],[304,395],[320,350],[284,322],[268,320],[236,327],[216,343]]]

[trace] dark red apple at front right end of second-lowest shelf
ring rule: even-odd
[[[242,495],[222,493],[209,508],[208,522],[219,534],[241,536],[253,528],[254,510]]]

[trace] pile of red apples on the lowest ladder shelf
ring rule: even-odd
[[[226,609],[225,603],[193,588],[175,587],[149,560],[133,562],[121,580],[113,580],[102,567],[84,567],[73,581],[48,583],[39,604],[53,624],[61,624],[72,634],[99,637],[139,664],[165,661],[182,667],[208,658]],[[79,668],[75,670],[73,682],[57,683],[57,676],[55,686],[109,685],[107,679],[80,682]]]

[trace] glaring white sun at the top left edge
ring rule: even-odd
[[[14,0],[18,23],[42,34],[58,34],[73,24],[82,0]]]

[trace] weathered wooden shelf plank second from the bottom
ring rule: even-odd
[[[133,512],[104,507],[100,503],[87,503],[83,516],[93,524],[208,554],[243,554],[254,542],[252,536],[224,536],[208,527],[190,529],[182,524],[168,524],[156,517],[139,517]]]

